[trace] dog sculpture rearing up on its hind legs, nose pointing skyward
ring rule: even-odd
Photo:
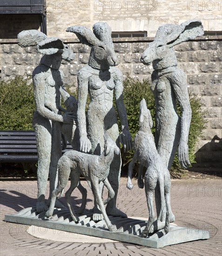
[[[154,136],[151,128],[153,127],[152,117],[147,108],[146,101],[142,99],[140,103],[140,130],[135,135],[134,150],[135,154],[129,164],[127,188],[132,189],[131,182],[133,166],[139,160],[141,166],[147,168],[145,174],[145,191],[147,197],[147,205],[149,210],[149,219],[146,228],[142,232],[142,236],[146,237],[150,233],[151,226],[155,221],[155,213],[153,207],[153,195],[157,184],[160,186],[161,192],[161,222],[165,220],[165,232],[169,231],[168,209],[170,207],[169,191],[170,191],[170,175],[167,167],[162,162],[161,156],[158,154],[155,146]],[[138,185],[143,188],[142,168],[138,177]],[[166,202],[166,203],[165,203]]]

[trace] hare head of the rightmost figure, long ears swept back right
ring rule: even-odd
[[[157,64],[163,60],[162,68],[165,68],[165,65],[173,66],[176,57],[172,47],[203,34],[202,22],[195,19],[185,21],[181,25],[162,25],[158,28],[154,41],[149,43],[148,48],[143,52],[141,62],[145,65],[153,62],[154,68],[159,68]]]

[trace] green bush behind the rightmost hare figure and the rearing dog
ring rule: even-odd
[[[152,115],[154,126],[152,128],[153,134],[155,133],[155,100],[153,93],[150,90],[150,83],[148,80],[140,81],[139,79],[133,79],[127,77],[123,82],[124,91],[124,103],[127,109],[129,130],[134,138],[135,134],[139,130],[139,111],[140,111],[140,101],[144,98],[147,102],[147,107]],[[192,109],[192,120],[189,130],[188,147],[189,147],[189,160],[191,163],[195,162],[195,144],[198,138],[202,135],[202,130],[205,128],[204,113],[201,109],[201,102],[196,97],[190,97],[190,105]],[[178,113],[180,115],[180,107],[177,104]],[[120,126],[119,126],[120,127]],[[128,162],[131,161],[133,157],[133,150],[128,153],[122,153],[123,167],[128,167]],[[125,169],[125,168],[124,168]],[[137,169],[137,168],[136,168]],[[171,175],[178,176],[177,172],[180,170],[180,164],[177,155],[175,155],[174,162],[171,167]]]

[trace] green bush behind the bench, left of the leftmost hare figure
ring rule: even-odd
[[[16,76],[0,81],[0,130],[33,130],[33,84]]]

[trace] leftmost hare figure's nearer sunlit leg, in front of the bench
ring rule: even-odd
[[[35,112],[33,116],[33,126],[35,130],[38,152],[38,197],[36,210],[38,213],[40,213],[48,209],[47,205],[45,204],[45,195],[51,157],[52,126],[51,121],[39,115],[37,112]]]

